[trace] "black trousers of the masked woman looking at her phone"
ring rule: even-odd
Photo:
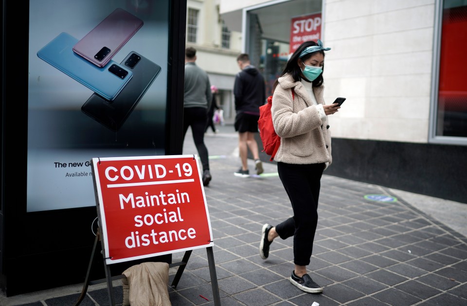
[[[293,217],[276,225],[281,239],[293,236],[293,262],[299,266],[310,264],[316,226],[318,199],[324,163],[277,163],[279,177],[292,204]]]

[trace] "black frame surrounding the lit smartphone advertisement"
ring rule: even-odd
[[[165,155],[178,155],[183,145],[186,0],[167,1]],[[12,296],[83,283],[97,211],[95,206],[27,211],[29,1],[2,0],[1,16],[0,289]],[[170,262],[172,257],[159,259]],[[113,274],[134,264],[112,265]],[[105,278],[103,266],[97,262],[95,267],[90,278]]]

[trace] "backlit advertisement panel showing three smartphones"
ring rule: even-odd
[[[169,0],[29,1],[27,211],[95,205],[90,160],[165,154]]]

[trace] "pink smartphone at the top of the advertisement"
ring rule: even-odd
[[[143,24],[140,18],[117,8],[78,41],[73,51],[92,64],[104,67]]]

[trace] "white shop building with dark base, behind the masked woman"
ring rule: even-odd
[[[328,174],[467,203],[466,0],[219,2],[268,85],[300,35],[331,48]]]

